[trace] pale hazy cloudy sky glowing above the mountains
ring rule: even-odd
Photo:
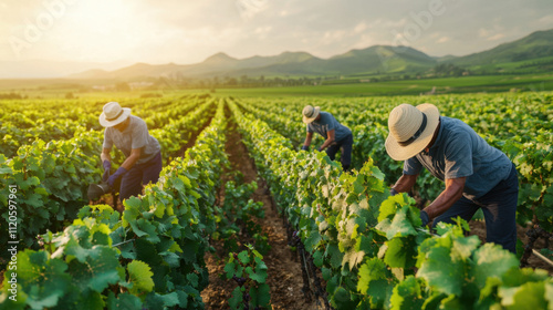
[[[0,1],[0,61],[185,64],[374,44],[466,55],[553,28],[552,0]]]

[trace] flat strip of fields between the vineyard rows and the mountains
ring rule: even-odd
[[[479,75],[462,78],[420,79],[352,83],[355,80],[323,81],[321,85],[275,86],[275,87],[232,87],[232,89],[177,89],[155,87],[125,92],[125,97],[158,94],[160,96],[209,92],[212,95],[231,96],[379,96],[419,95],[435,89],[435,94],[450,93],[495,93],[552,91],[553,74],[536,75]],[[358,80],[357,80],[358,81]],[[345,83],[344,83],[345,82]],[[0,95],[17,93],[25,97],[118,97],[115,91],[93,91],[93,85],[109,85],[114,81],[71,81],[71,80],[0,80]],[[332,83],[332,84],[328,84]]]

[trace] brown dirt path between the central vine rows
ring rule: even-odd
[[[234,124],[231,124],[228,132],[226,152],[229,154],[231,170],[241,172],[246,183],[258,182],[258,189],[252,199],[262,202],[265,210],[265,217],[260,220],[260,224],[271,245],[271,250],[263,257],[263,261],[268,267],[267,283],[271,288],[273,309],[317,309],[315,302],[305,302],[302,293],[303,279],[300,262],[293,258],[293,252],[289,249],[283,221],[275,210],[267,184],[259,178],[254,162],[249,156]],[[223,177],[225,180],[226,177]],[[225,261],[219,261],[215,255],[208,252],[206,264],[209,270],[209,286],[201,292],[206,309],[229,309],[228,299],[237,285],[232,280],[221,279],[220,275],[225,272]]]

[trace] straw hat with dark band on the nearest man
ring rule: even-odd
[[[385,144],[389,157],[405,161],[425,149],[432,140],[439,118],[438,107],[429,103],[416,107],[404,103],[392,110]]]

